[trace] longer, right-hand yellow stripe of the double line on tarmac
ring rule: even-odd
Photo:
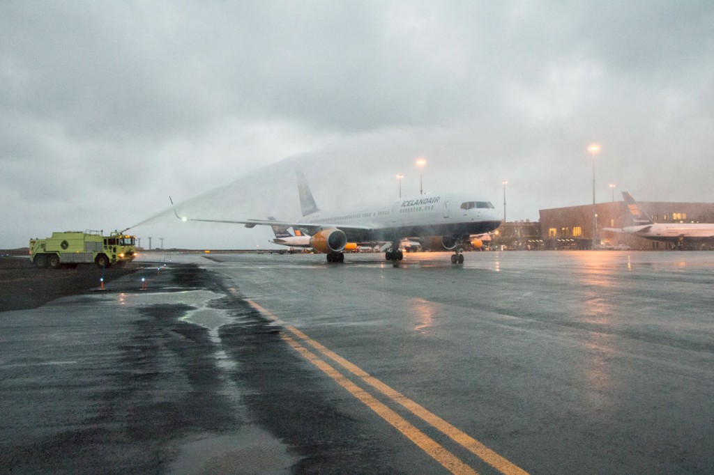
[[[328,349],[323,344],[320,344],[314,339],[311,339],[306,334],[298,330],[296,327],[293,327],[292,325],[286,325],[286,323],[283,322],[283,320],[281,320],[277,315],[261,307],[261,305],[258,305],[252,300],[248,300],[248,303],[253,308],[258,310],[258,312],[263,313],[263,315],[266,315],[274,322],[280,323],[286,328],[286,330],[294,334],[296,337],[302,339],[303,341],[307,342],[311,347],[330,357],[331,359],[333,359],[333,361],[340,364],[342,367],[347,369],[356,377],[361,378],[364,382],[366,382],[366,384],[369,384],[371,387],[378,390],[385,396],[389,397],[394,402],[408,409],[412,414],[415,414],[417,417],[420,417],[424,421],[431,424],[431,426],[443,432],[443,434],[449,436],[457,444],[463,446],[463,448],[467,449],[472,454],[478,456],[481,460],[493,466],[494,469],[500,471],[502,474],[528,475],[527,471],[521,469],[521,467],[517,466],[516,464],[513,464],[513,462],[509,461],[508,459],[505,459],[503,456],[496,454],[495,451],[489,449],[487,446],[483,445],[481,442],[474,439],[472,436],[466,434],[466,432],[454,427],[452,424],[449,424],[444,419],[441,419],[441,417],[438,417],[436,414],[432,414],[421,405],[417,404],[416,402],[412,401],[400,392],[396,391],[396,389],[392,389],[376,377],[370,376],[370,374],[368,374],[360,367],[356,366],[356,364],[348,362],[348,360],[331,351],[331,349]]]

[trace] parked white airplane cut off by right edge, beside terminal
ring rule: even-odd
[[[645,237],[655,241],[671,242],[674,245],[683,242],[701,242],[714,239],[714,224],[712,223],[655,223],[640,208],[630,193],[623,191],[623,198],[633,215],[635,224],[625,228],[603,228],[603,231],[625,233]]]

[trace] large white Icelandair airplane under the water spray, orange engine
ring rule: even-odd
[[[310,247],[324,252],[328,262],[343,262],[348,242],[391,242],[386,260],[402,260],[399,244],[404,237],[441,236],[442,245],[453,250],[453,264],[463,262],[462,242],[472,234],[489,233],[501,225],[501,216],[491,202],[471,193],[436,193],[399,198],[378,203],[354,205],[333,211],[318,209],[308,183],[298,171],[298,194],[304,220],[208,220],[187,218],[183,221],[236,223],[254,228],[257,225],[304,229]],[[172,201],[173,203],[173,201]]]

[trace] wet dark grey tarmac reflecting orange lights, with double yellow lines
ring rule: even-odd
[[[464,265],[424,253],[396,266],[381,255],[161,260],[104,291],[0,312],[0,466],[714,466],[714,253],[471,252]]]

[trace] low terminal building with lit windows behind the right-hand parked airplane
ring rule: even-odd
[[[714,223],[714,203],[638,202],[655,223]],[[506,250],[592,249],[593,237],[602,245],[626,246],[634,250],[667,249],[668,243],[604,231],[633,225],[624,201],[597,203],[593,230],[593,205],[540,210],[540,221],[503,223],[492,247]],[[594,236],[593,236],[594,231]],[[708,243],[703,248],[714,248]]]

